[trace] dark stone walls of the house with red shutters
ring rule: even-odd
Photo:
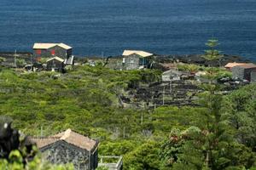
[[[40,50],[40,49],[39,49]],[[61,48],[60,46],[55,46],[48,49],[41,49],[41,54],[37,54],[38,49],[33,49],[33,55],[35,58],[38,57],[52,57],[52,51],[55,51],[55,56],[61,57],[62,59],[66,59],[69,56],[72,55],[72,48],[71,49],[65,49]]]

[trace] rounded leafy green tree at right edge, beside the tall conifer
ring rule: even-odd
[[[256,84],[247,85],[224,97],[223,117],[237,141],[256,151]]]

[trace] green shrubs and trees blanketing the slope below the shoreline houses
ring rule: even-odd
[[[216,44],[209,42],[206,59],[219,59]],[[10,116],[26,134],[70,127],[89,135],[101,142],[100,155],[124,156],[124,169],[255,169],[256,84],[223,96],[212,80],[224,71],[203,71],[211,81],[201,84],[198,106],[153,111],[122,108],[119,96],[159,81],[160,71],[113,71],[100,64],[76,66],[63,75],[2,69],[0,115]],[[5,167],[6,161],[0,164]]]

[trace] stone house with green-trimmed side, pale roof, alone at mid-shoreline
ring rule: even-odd
[[[153,54],[138,50],[125,50],[122,54],[122,70],[148,68]]]

